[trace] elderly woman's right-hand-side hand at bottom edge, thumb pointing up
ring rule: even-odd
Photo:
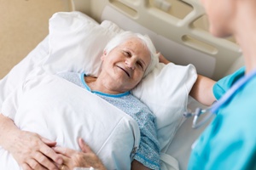
[[[84,143],[83,139],[79,139],[79,146],[82,151],[71,150],[60,146],[54,147],[55,152],[59,153],[64,160],[60,169],[73,170],[74,167],[94,167],[97,170],[106,170],[102,161],[90,150],[90,147]]]

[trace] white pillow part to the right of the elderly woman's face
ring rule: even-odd
[[[189,91],[197,74],[194,65],[168,65],[159,63],[131,92],[154,112],[158,139],[162,152],[166,152],[187,110]]]

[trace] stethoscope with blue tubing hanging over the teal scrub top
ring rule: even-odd
[[[236,91],[238,88],[241,88],[243,85],[245,85],[249,80],[251,80],[256,75],[256,70],[251,71],[249,74],[247,74],[244,77],[241,77],[236,83],[218,100],[215,101],[211,107],[208,107],[207,109],[201,109],[200,107],[196,108],[194,112],[184,112],[183,116],[190,117],[194,116],[192,127],[198,128],[204,125],[206,122],[208,122],[213,115],[217,115],[217,111],[219,108],[224,105],[231,97],[236,94]],[[209,113],[208,116],[205,116],[201,122],[198,122],[199,117],[204,114]]]

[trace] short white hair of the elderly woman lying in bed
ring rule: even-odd
[[[104,51],[106,52],[106,54],[108,54],[111,50],[113,50],[113,48],[116,48],[117,46],[119,46],[119,44],[126,42],[128,39],[131,39],[131,38],[140,39],[143,42],[143,45],[146,48],[148,48],[148,51],[150,53],[151,60],[143,75],[143,77],[146,77],[149,72],[153,71],[155,65],[159,62],[159,54],[156,53],[154,44],[151,41],[151,39],[148,37],[148,35],[142,35],[142,34],[131,32],[131,31],[121,32],[108,42],[108,44],[104,48]]]

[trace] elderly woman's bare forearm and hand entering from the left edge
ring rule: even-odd
[[[9,117],[0,114],[0,145],[23,169],[58,169],[56,165],[62,159],[51,149],[55,144],[36,133],[21,131]]]

